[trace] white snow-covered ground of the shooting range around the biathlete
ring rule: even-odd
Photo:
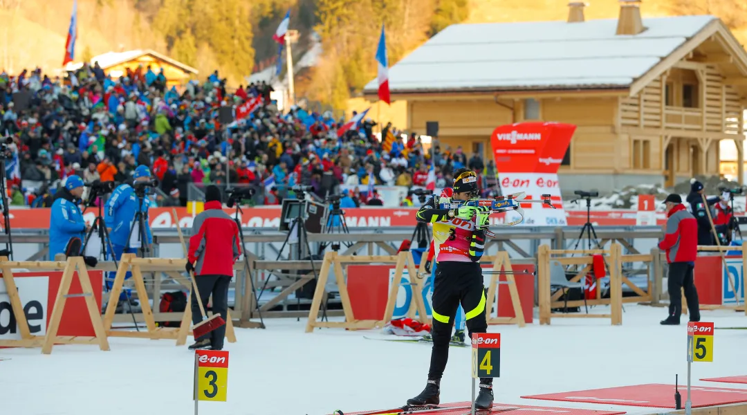
[[[605,310],[597,307],[595,311]],[[703,311],[702,315],[717,328],[747,326],[743,313]],[[673,384],[675,374],[684,383],[686,324],[659,325],[665,316],[665,308],[626,305],[623,325],[617,327],[609,319],[554,319],[551,326],[526,328],[491,326],[489,331],[503,334],[495,402],[654,413],[645,408],[519,396]],[[335,409],[347,413],[393,408],[424,387],[429,346],[366,340],[366,331],[336,328],[306,334],[303,319],[267,319],[265,323],[266,330],[237,328],[238,343],[226,343],[230,352],[228,402],[200,402],[200,414],[322,415]],[[52,355],[45,356],[40,349],[0,349],[0,359],[10,359],[0,360],[0,413],[192,413],[194,360],[186,347],[176,348],[170,340],[109,341],[110,352],[94,346],[55,346]],[[739,388],[698,378],[747,375],[746,344],[747,330],[716,330],[714,361],[693,364],[693,384]],[[470,399],[470,353],[468,348],[451,349],[441,382],[441,402]],[[681,393],[684,404],[684,387]]]

